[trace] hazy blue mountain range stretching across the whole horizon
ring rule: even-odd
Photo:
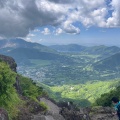
[[[86,47],[77,44],[69,45],[51,45],[44,46],[39,43],[27,42],[23,39],[10,39],[10,40],[0,40],[0,52],[7,53],[12,52],[13,49],[17,50],[20,48],[35,49],[40,52],[56,53],[58,52],[74,52],[82,54],[93,54],[93,55],[103,55],[110,56],[120,52],[120,48],[117,46],[92,46]],[[31,51],[30,51],[31,52]]]

